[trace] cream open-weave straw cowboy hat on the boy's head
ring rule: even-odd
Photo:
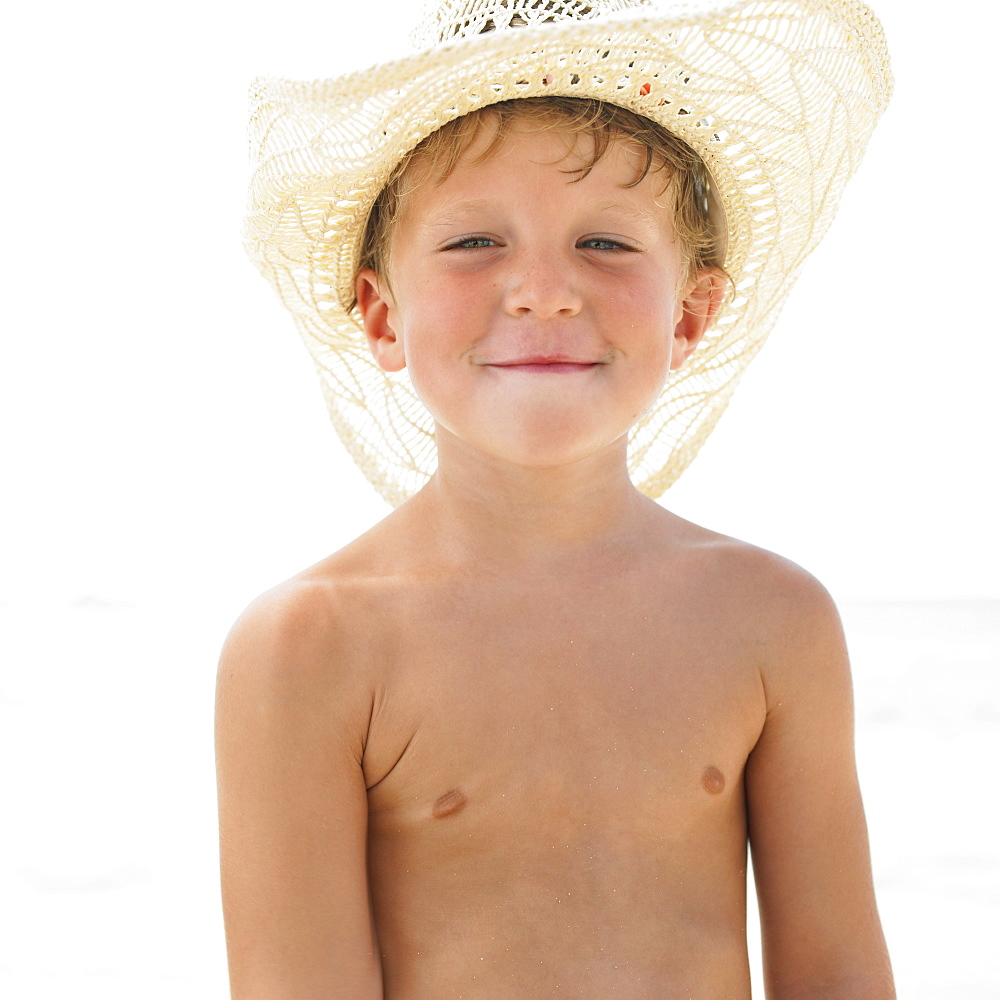
[[[340,78],[256,81],[247,253],[295,317],[333,425],[391,504],[433,472],[434,425],[406,373],[377,367],[354,278],[400,158],[446,122],[514,98],[596,98],[705,161],[734,293],[632,430],[657,497],[697,454],[770,331],[892,90],[881,27],[854,0],[437,0],[415,51]]]

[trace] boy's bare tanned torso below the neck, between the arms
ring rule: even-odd
[[[744,548],[687,526],[577,574],[316,568],[366,636],[386,1000],[749,996]]]

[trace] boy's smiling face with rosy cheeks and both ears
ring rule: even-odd
[[[624,451],[712,311],[684,280],[663,175],[624,186],[638,154],[615,142],[576,180],[589,138],[523,130],[476,163],[489,138],[443,182],[411,165],[391,290],[358,277],[372,351],[408,369],[439,446],[536,467]]]

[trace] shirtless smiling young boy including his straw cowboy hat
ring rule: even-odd
[[[226,643],[233,997],[747,998],[749,840],[768,996],[890,998],[836,611],[650,498],[832,215],[877,23],[494,0],[435,30],[258,93],[251,254],[409,498]]]

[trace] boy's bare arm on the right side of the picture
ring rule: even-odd
[[[829,595],[783,571],[747,762],[768,1000],[892,1000],[854,762],[850,668]]]

